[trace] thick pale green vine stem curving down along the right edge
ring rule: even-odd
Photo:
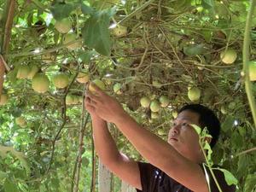
[[[249,106],[253,113],[253,122],[256,125],[256,105],[253,96],[252,84],[249,77],[249,51],[250,51],[250,32],[252,26],[252,19],[253,19],[253,9],[256,6],[256,0],[251,0],[251,6],[249,8],[247,14],[247,22],[244,32],[244,39],[243,39],[243,49],[242,49],[242,62],[243,62],[243,69],[242,72],[245,74],[245,90],[247,93],[247,99],[249,102]]]

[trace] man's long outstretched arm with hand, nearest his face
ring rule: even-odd
[[[96,94],[90,97],[90,107],[102,119],[112,122],[137,148],[138,152],[154,166],[159,167],[170,177],[196,192],[208,192],[207,180],[201,167],[183,157],[169,143],[138,125],[119,102],[96,88]]]

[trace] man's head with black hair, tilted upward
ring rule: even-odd
[[[201,128],[207,126],[209,134],[212,135],[210,145],[213,147],[218,139],[220,123],[211,109],[199,104],[184,106],[179,110],[177,118],[173,120],[172,128],[168,134],[168,143],[190,160],[201,161],[199,136],[191,124]]]

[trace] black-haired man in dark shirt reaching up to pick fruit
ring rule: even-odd
[[[113,97],[96,85],[88,91],[85,108],[91,115],[96,152],[108,169],[143,192],[218,192],[209,170],[202,166],[204,156],[199,136],[191,126],[207,126],[213,146],[219,133],[219,121],[212,111],[201,105],[185,106],[173,121],[168,141],[138,125]],[[115,124],[148,163],[136,162],[119,153],[106,122]],[[214,171],[223,192],[235,191],[221,172]]]

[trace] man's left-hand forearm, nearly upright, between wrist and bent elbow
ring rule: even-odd
[[[92,118],[93,138],[96,152],[103,164],[113,163],[119,158],[119,150],[108,131],[106,121],[98,118]]]

